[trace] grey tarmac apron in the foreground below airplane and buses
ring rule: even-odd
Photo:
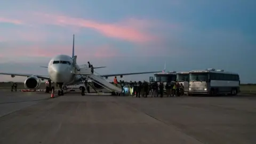
[[[0,91],[0,143],[255,143],[256,97]]]

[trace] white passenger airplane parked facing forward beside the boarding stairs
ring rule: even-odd
[[[48,63],[48,67],[44,67],[48,69],[49,76],[43,75],[34,75],[34,74],[19,74],[19,73],[0,73],[1,75],[11,75],[11,77],[15,76],[25,76],[27,77],[24,86],[29,90],[36,90],[41,84],[41,80],[47,79],[51,85],[51,83],[57,84],[60,90],[58,90],[58,95],[64,95],[63,86],[73,85],[77,83],[81,83],[84,81],[87,75],[89,74],[79,74],[77,71],[81,70],[81,66],[78,66],[76,63],[77,55],[75,55],[75,35],[73,35],[73,52],[72,56],[65,54],[59,54],[53,57]],[[104,68],[104,67],[94,67],[96,68]],[[125,73],[125,74],[109,74],[109,75],[100,75],[101,77],[111,77],[111,76],[120,76],[124,75],[137,75],[137,74],[149,74],[149,73],[159,73],[162,71],[149,71],[149,72],[141,72],[141,73]],[[103,89],[97,83],[93,83],[93,86],[97,89]],[[54,86],[53,86],[54,89]]]

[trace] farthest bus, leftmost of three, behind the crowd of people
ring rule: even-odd
[[[150,77],[149,81],[150,82],[157,82],[158,85],[160,82],[163,82],[164,85],[166,85],[166,83],[170,83],[170,82],[175,82],[177,79],[177,74],[176,71],[168,71],[167,73],[156,73],[154,74],[154,77]],[[165,87],[164,87],[164,91]]]

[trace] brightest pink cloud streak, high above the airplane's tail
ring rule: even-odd
[[[156,41],[158,38],[154,35],[150,35],[146,32],[145,28],[147,25],[151,25],[150,22],[143,22],[142,20],[138,25],[136,25],[135,20],[132,25],[126,23],[123,25],[124,22],[117,22],[117,23],[101,23],[93,20],[86,20],[82,18],[71,18],[66,17],[63,15],[54,15],[54,14],[42,14],[42,13],[35,13],[36,17],[27,16],[27,21],[30,23],[38,22],[38,23],[46,23],[50,25],[58,25],[58,26],[74,26],[80,28],[92,28],[99,33],[113,38],[124,39],[130,42],[136,43],[146,43],[151,41]],[[141,25],[146,27],[141,27]]]

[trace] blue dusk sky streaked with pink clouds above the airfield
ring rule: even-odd
[[[90,61],[99,74],[224,69],[256,83],[256,1],[9,0],[0,5],[0,71],[47,75],[49,60]],[[254,56],[253,56],[254,55]],[[153,74],[124,76],[139,81]],[[0,81],[26,77],[0,76]],[[119,78],[120,79],[120,78]]]

